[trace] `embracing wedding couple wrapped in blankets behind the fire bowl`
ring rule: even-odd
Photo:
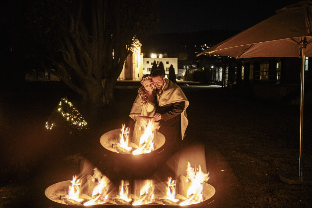
[[[162,148],[173,153],[177,151],[178,141],[185,137],[188,99],[177,84],[165,78],[162,70],[144,75],[141,84],[130,111],[129,116],[133,119],[130,128],[143,119],[159,122],[158,132],[166,139]]]

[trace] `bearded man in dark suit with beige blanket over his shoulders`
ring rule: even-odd
[[[151,74],[156,89],[158,107],[153,116],[154,121],[160,122],[159,132],[165,136],[163,148],[166,151],[177,150],[178,141],[185,137],[188,125],[186,108],[188,99],[182,89],[165,78],[162,70],[155,70]]]

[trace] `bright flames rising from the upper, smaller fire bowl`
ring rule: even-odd
[[[149,153],[155,150],[154,148],[154,133],[159,129],[159,123],[154,122],[153,120],[142,120],[139,122],[139,129],[143,129],[144,133],[140,137],[138,148],[129,147],[129,128],[125,128],[125,125],[122,125],[120,129],[120,139],[117,143],[117,148],[123,148],[129,154],[139,155]],[[118,151],[118,150],[117,150]]]

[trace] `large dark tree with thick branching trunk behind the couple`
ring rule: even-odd
[[[78,93],[82,104],[114,100],[124,60],[158,23],[154,1],[35,1],[28,20],[45,55],[44,69]]]

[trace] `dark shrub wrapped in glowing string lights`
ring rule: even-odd
[[[89,129],[85,119],[67,97],[61,99],[46,122],[47,129],[56,126],[63,126],[73,134],[85,133]]]

